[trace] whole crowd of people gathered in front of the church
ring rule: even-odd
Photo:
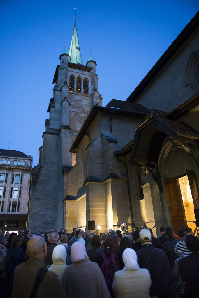
[[[198,238],[188,227],[159,232],[0,231],[0,297],[198,298]]]

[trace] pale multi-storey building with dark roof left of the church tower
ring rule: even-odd
[[[26,228],[27,202],[33,156],[0,149],[0,229]]]

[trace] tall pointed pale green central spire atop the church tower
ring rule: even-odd
[[[74,29],[72,32],[69,56],[70,56],[71,63],[82,64],[78,36],[77,36],[77,28],[76,28],[76,8],[74,8],[74,10],[75,10],[75,25],[74,25]]]

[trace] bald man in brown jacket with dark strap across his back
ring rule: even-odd
[[[27,262],[15,268],[13,291],[10,298],[32,297],[36,298],[66,297],[63,286],[53,271],[45,269],[46,242],[41,236],[33,236],[27,243]],[[38,272],[40,274],[38,275]],[[43,279],[42,279],[43,277]],[[19,285],[23,283],[23,287]],[[36,291],[37,289],[37,291]],[[36,292],[36,293],[35,293]]]

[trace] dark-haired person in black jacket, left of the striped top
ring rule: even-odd
[[[178,243],[178,240],[173,236],[173,230],[171,227],[165,228],[165,234],[167,241],[163,243],[161,249],[166,253],[168,260],[169,260],[169,265],[172,270],[175,259],[177,259],[176,253],[175,253],[175,245]]]

